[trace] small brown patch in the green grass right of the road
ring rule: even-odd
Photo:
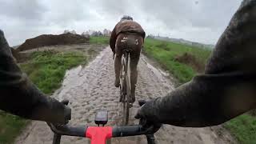
[[[204,64],[202,62],[199,62],[198,59],[195,58],[194,55],[192,54],[185,53],[180,56],[177,56],[175,58],[175,61],[189,65],[198,72],[203,72],[205,69]]]

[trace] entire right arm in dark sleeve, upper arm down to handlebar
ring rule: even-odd
[[[174,126],[213,126],[256,106],[256,1],[243,1],[206,65],[206,73],[146,102],[141,118]]]

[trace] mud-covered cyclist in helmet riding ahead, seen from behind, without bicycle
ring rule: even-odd
[[[131,101],[135,102],[135,87],[138,78],[137,65],[140,52],[144,43],[145,31],[138,22],[134,22],[130,16],[123,16],[112,31],[110,37],[110,48],[115,54],[114,72],[115,82],[114,86],[120,86],[120,70],[123,50],[130,50],[130,85],[131,85]]]

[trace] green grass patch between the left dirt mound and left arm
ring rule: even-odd
[[[79,52],[34,52],[30,62],[21,64],[30,80],[45,94],[51,94],[62,85],[66,70],[86,64],[86,57]]]

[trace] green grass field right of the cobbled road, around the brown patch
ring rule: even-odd
[[[186,63],[178,62],[177,58],[183,54],[190,54],[197,59],[198,62],[205,65],[206,59],[210,56],[211,50],[198,47],[186,46],[174,42],[166,42],[152,38],[146,38],[143,53],[154,58],[162,67],[168,70],[177,78],[179,82],[184,83],[190,81],[197,70]]]

